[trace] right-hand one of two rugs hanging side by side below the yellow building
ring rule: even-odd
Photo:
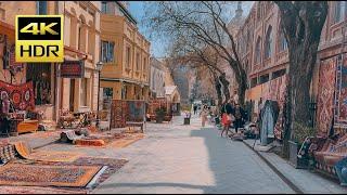
[[[144,121],[145,105],[144,101],[127,101],[127,121]]]

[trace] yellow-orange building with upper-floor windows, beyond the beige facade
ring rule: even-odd
[[[150,95],[150,47],[137,21],[118,1],[102,2],[101,88],[114,100],[147,100]]]

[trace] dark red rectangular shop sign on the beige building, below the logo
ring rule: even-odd
[[[83,78],[85,62],[83,61],[64,61],[64,63],[61,65],[61,77]]]

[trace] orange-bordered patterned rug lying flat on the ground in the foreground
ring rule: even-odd
[[[0,168],[0,185],[83,187],[100,169],[100,166],[9,164]]]

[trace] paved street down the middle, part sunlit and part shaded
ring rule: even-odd
[[[129,162],[93,193],[294,193],[244,143],[201,128],[197,116],[182,121],[147,123],[145,139],[105,151]]]

